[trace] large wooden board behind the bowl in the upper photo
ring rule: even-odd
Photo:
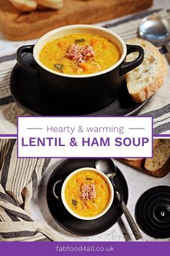
[[[0,30],[9,40],[39,38],[56,27],[91,24],[139,12],[153,0],[63,0],[60,10],[38,9],[20,12],[8,0],[0,0]]]

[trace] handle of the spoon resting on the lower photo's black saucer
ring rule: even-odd
[[[120,195],[119,195],[120,197]],[[136,225],[133,216],[131,216],[130,211],[128,210],[127,206],[125,205],[125,202],[122,200],[122,205],[121,205],[122,211],[125,214],[125,217],[130,225],[130,228],[133,231],[133,234],[135,236],[136,240],[139,240],[142,238],[142,235],[140,234],[140,231],[138,229],[138,226]]]

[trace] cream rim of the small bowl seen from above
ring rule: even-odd
[[[71,210],[71,208],[68,206],[68,203],[66,202],[66,197],[65,197],[65,189],[66,189],[66,184],[68,183],[68,180],[71,179],[72,176],[74,176],[75,174],[81,172],[81,171],[95,171],[98,174],[100,174],[105,181],[107,182],[108,186],[109,186],[109,191],[110,191],[110,198],[109,198],[109,202],[106,208],[104,208],[104,210],[102,210],[102,213],[97,214],[96,216],[92,216],[92,217],[84,217],[84,216],[80,216],[79,214],[75,213],[73,210]],[[110,182],[109,178],[107,177],[106,174],[104,174],[102,171],[99,171],[96,168],[91,168],[91,167],[84,167],[84,168],[79,168],[76,169],[76,171],[71,172],[71,174],[69,174],[67,176],[67,178],[65,179],[65,181],[63,182],[62,188],[61,188],[61,199],[63,201],[63,205],[65,206],[66,210],[68,210],[69,213],[71,213],[72,216],[79,218],[81,220],[85,220],[85,221],[91,221],[94,220],[96,218],[102,217],[105,213],[107,213],[107,211],[109,210],[109,208],[112,205],[113,199],[114,199],[114,189],[112,186],[112,183]]]

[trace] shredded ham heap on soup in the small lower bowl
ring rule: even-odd
[[[83,183],[81,185],[80,198],[82,200],[90,200],[90,199],[94,199],[95,197],[96,197],[95,185],[94,184],[87,185]]]

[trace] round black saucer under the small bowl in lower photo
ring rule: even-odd
[[[60,166],[58,166],[53,174],[51,174],[47,185],[47,202],[48,208],[51,215],[55,221],[66,229],[67,231],[79,235],[79,236],[93,236],[95,234],[100,234],[107,229],[111,228],[117,220],[122,216],[122,210],[120,208],[115,208],[114,203],[111,208],[104,214],[104,216],[97,218],[92,221],[83,221],[78,218],[73,217],[63,205],[61,200],[57,200],[52,193],[53,184],[60,180],[66,179],[66,177],[78,168],[83,167],[93,167],[95,159],[85,158],[85,159],[67,159]],[[117,168],[117,175],[114,178],[115,185],[117,189],[122,191],[125,203],[128,202],[128,185],[125,181],[125,177],[122,175],[121,171]],[[63,182],[58,184],[58,188],[55,191],[59,197],[61,194],[61,187]]]

